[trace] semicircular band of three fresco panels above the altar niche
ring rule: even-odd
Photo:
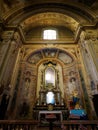
[[[46,48],[43,49],[42,51],[37,51],[33,53],[31,56],[29,56],[27,62],[36,65],[44,57],[58,58],[64,64],[70,64],[73,62],[72,57],[69,56],[66,52],[54,48]]]

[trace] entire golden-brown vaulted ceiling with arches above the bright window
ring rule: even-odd
[[[96,25],[97,7],[97,0],[4,0],[1,14],[7,26],[21,26],[24,36],[38,26],[62,26],[76,38],[81,27]]]

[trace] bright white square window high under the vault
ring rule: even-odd
[[[55,40],[56,39],[56,30],[44,30],[43,39]]]

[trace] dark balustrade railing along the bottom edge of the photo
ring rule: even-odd
[[[0,120],[0,130],[40,130],[39,124],[35,120]],[[57,129],[55,125],[53,130]],[[98,120],[66,120],[59,125],[61,130],[98,130]]]

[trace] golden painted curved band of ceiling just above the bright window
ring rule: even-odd
[[[70,22],[69,22],[70,21]],[[75,32],[78,28],[79,23],[73,18],[61,14],[61,13],[40,13],[29,17],[21,23],[24,30],[35,26],[65,26],[72,32]]]

